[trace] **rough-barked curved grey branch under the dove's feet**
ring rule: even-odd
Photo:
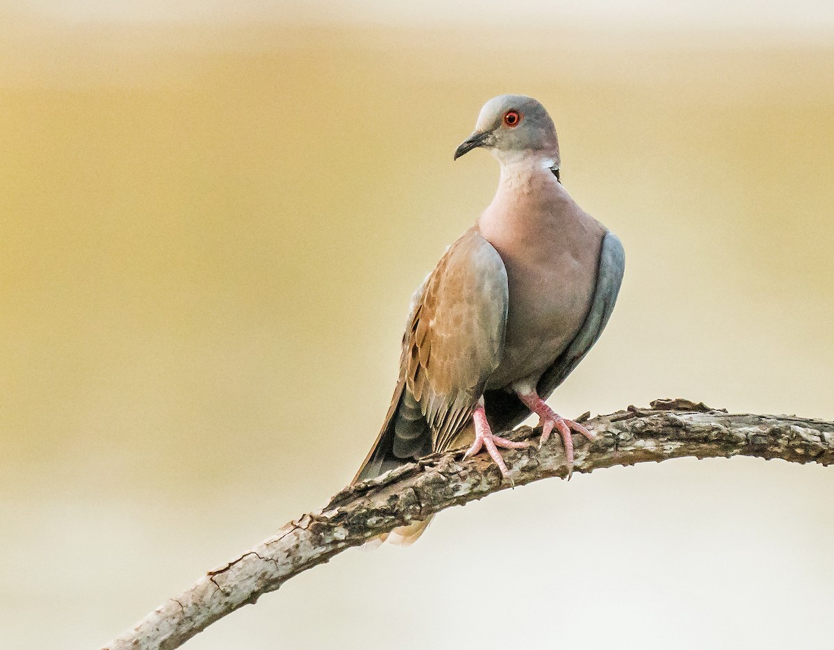
[[[582,416],[585,421],[589,414]],[[587,445],[575,436],[574,471],[695,456],[755,456],[785,461],[834,461],[834,422],[795,416],[731,415],[686,400],[658,400],[646,409],[629,406],[585,421],[596,434]],[[520,440],[535,430],[522,427]],[[516,486],[567,475],[558,441],[537,450],[505,451]],[[106,650],[171,650],[219,618],[254,603],[300,572],[327,562],[346,548],[451,506],[510,487],[489,456],[463,459],[460,451],[427,456],[372,481],[349,486],[322,510],[289,522],[274,537],[232,562],[209,571],[105,646]]]

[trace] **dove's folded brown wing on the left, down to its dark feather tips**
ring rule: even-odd
[[[414,294],[397,387],[354,481],[423,455],[429,444],[430,451],[448,448],[503,355],[507,304],[504,263],[470,229]],[[415,421],[418,405],[422,418]]]

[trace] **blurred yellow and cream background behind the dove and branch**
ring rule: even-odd
[[[0,637],[100,647],[354,475],[411,292],[526,93],[620,235],[555,395],[834,418],[834,6],[0,5]],[[834,472],[543,481],[351,550],[188,642],[830,647]]]

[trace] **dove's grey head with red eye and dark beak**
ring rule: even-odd
[[[499,95],[480,109],[475,132],[455,149],[455,160],[483,147],[501,163],[528,156],[559,164],[556,128],[545,107],[524,95]]]

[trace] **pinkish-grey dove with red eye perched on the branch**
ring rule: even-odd
[[[558,431],[572,471],[578,422],[545,400],[599,339],[620,291],[620,239],[585,213],[560,177],[559,141],[545,107],[500,95],[481,108],[457,160],[486,149],[500,163],[495,197],[445,251],[411,299],[399,377],[379,436],[352,484],[421,456],[469,446],[510,479],[495,431],[539,416],[540,445]],[[430,518],[380,536],[402,546]]]

